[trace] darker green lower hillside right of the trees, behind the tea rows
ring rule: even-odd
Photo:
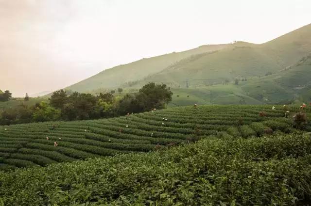
[[[193,88],[172,88],[170,107],[191,104],[288,104],[311,102],[311,55],[285,70],[240,81]]]

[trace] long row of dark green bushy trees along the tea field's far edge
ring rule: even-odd
[[[121,91],[119,90],[121,93]],[[116,99],[112,93],[91,95],[64,90],[53,92],[49,103],[42,101],[34,106],[21,104],[0,113],[0,124],[20,124],[57,120],[86,120],[163,109],[172,100],[173,93],[165,84],[150,82],[138,93]]]

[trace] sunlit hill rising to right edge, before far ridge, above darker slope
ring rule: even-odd
[[[144,81],[182,87],[222,83],[237,77],[259,77],[294,65],[311,51],[311,24],[261,45],[238,42],[191,61],[176,64]]]

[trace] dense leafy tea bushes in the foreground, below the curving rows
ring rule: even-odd
[[[310,203],[311,136],[210,138],[154,153],[0,173],[2,205]]]

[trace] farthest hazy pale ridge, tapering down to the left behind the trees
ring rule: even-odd
[[[206,45],[183,52],[173,52],[152,58],[141,59],[133,63],[106,69],[101,73],[69,86],[66,89],[78,92],[89,92],[99,88],[118,87],[125,82],[136,81],[143,79],[148,75],[157,73],[173,63],[190,57],[191,55],[215,51],[226,48],[227,46],[229,45]]]

